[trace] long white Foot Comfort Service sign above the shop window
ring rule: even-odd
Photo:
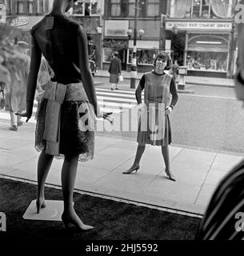
[[[166,30],[218,30],[231,31],[231,22],[166,22]]]

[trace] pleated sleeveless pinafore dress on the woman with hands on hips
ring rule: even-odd
[[[144,106],[138,120],[138,144],[167,146],[171,143],[170,115],[165,114],[170,106],[170,82],[168,74],[145,74]]]

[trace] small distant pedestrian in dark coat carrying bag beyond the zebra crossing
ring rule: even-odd
[[[114,90],[114,84],[115,84],[115,90],[118,90],[118,77],[121,74],[121,61],[118,58],[118,52],[114,52],[113,58],[111,58],[110,61],[110,83],[111,83],[111,90]]]

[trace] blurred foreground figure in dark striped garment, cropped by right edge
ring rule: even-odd
[[[244,104],[244,25],[238,24],[235,92]],[[244,105],[243,105],[244,106]],[[244,239],[244,160],[219,182],[196,235],[196,240]]]

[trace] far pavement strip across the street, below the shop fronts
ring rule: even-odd
[[[142,78],[143,73],[137,74],[137,79]],[[122,70],[122,75],[124,79],[130,79],[130,72]],[[110,74],[107,70],[97,70],[95,77],[109,77]],[[207,78],[207,77],[195,77],[188,76],[185,77],[186,87],[187,85],[204,85],[204,86],[234,86],[234,79],[230,78]]]

